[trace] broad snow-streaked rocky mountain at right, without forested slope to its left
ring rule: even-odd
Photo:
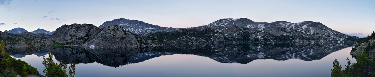
[[[355,36],[348,36],[334,31],[319,22],[304,21],[290,23],[286,21],[276,21],[272,23],[254,22],[246,18],[241,19],[219,19],[204,26],[192,29],[211,29],[222,33],[228,39],[241,41],[293,41],[306,42],[306,44],[342,44],[351,43],[358,39]],[[293,38],[293,39],[292,39]],[[306,40],[306,41],[304,41]]]

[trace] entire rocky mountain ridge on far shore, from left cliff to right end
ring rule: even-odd
[[[110,41],[108,38],[114,40]],[[166,28],[138,20],[120,18],[104,22],[99,27],[86,23],[82,25],[77,23],[62,25],[47,41],[50,44],[61,43],[64,46],[89,47],[97,44],[97,47],[105,47],[111,46],[105,44],[105,41],[117,44],[119,42],[114,41],[123,40],[127,42],[122,42],[113,47],[128,47],[247,42],[329,45],[351,44],[357,39],[359,38],[356,36],[346,35],[332,30],[320,22],[313,21],[268,23],[254,22],[247,18],[229,18],[219,19],[208,25],[193,28]],[[122,45],[125,43],[130,44]]]

